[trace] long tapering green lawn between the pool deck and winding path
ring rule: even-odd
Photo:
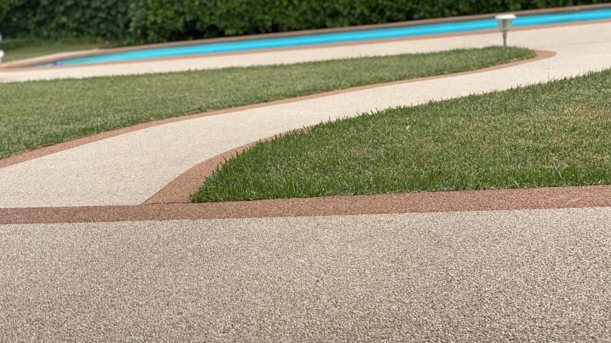
[[[0,84],[0,158],[156,119],[534,57],[491,47],[183,73]]]

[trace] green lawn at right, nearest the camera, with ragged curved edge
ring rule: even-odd
[[[611,184],[611,70],[257,143],[192,201]]]

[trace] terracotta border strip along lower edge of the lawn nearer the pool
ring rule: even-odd
[[[166,118],[166,119],[162,119],[162,120],[148,121],[147,123],[141,123],[141,124],[137,124],[137,125],[133,125],[133,126],[127,126],[126,128],[120,128],[120,129],[115,129],[115,130],[112,130],[112,131],[101,132],[100,134],[94,134],[94,135],[90,135],[90,136],[87,136],[87,137],[81,137],[79,139],[70,140],[68,142],[57,143],[55,145],[45,146],[44,148],[39,148],[39,149],[36,149],[36,150],[26,151],[25,153],[16,154],[14,156],[6,157],[4,159],[0,159],[0,168],[9,167],[10,165],[13,165],[13,164],[18,164],[18,163],[21,163],[21,162],[26,162],[26,161],[29,161],[31,159],[35,159],[35,158],[38,158],[38,157],[43,157],[43,156],[46,156],[46,155],[49,155],[49,154],[59,153],[60,151],[68,150],[68,149],[71,149],[71,148],[76,148],[76,146],[81,146],[81,145],[85,145],[87,143],[97,142],[98,140],[103,140],[103,139],[107,139],[107,138],[114,137],[114,136],[117,136],[117,135],[126,134],[128,132],[132,132],[132,131],[136,131],[136,130],[141,130],[141,129],[146,129],[146,128],[152,128],[153,126],[164,125],[164,124],[168,124],[168,123],[174,123],[175,121],[189,120],[189,119],[199,118],[199,117],[207,117],[207,116],[210,116],[210,115],[226,114],[226,113],[230,113],[230,112],[237,112],[237,111],[241,111],[241,110],[254,109],[254,108],[258,108],[258,107],[266,107],[266,106],[274,106],[274,105],[278,105],[278,104],[295,103],[297,101],[321,98],[323,96],[331,96],[331,95],[337,95],[337,94],[348,93],[348,92],[356,92],[358,90],[365,90],[365,89],[368,89],[368,88],[376,88],[376,87],[384,87],[384,86],[387,86],[387,85],[403,84],[403,83],[417,82],[417,81],[426,81],[426,80],[438,79],[438,78],[450,78],[450,77],[453,77],[453,76],[460,76],[460,75],[466,75],[466,74],[483,73],[485,71],[497,70],[497,69],[501,69],[501,68],[513,67],[515,65],[520,65],[520,64],[523,64],[523,63],[535,62],[536,60],[548,59],[548,58],[554,57],[556,55],[556,52],[554,52],[554,51],[546,51],[546,50],[535,50],[535,53],[536,53],[536,56],[533,57],[532,59],[525,59],[525,60],[519,60],[519,61],[515,61],[515,62],[510,62],[510,63],[504,63],[504,64],[500,64],[500,65],[493,65],[491,67],[486,67],[486,68],[481,68],[481,69],[475,69],[475,70],[469,70],[469,71],[461,71],[460,73],[442,74],[442,75],[436,75],[436,76],[428,76],[426,78],[406,79],[406,80],[399,80],[399,81],[384,82],[384,83],[381,83],[381,84],[373,84],[373,85],[364,85],[364,86],[359,86],[359,87],[344,88],[344,89],[340,89],[340,90],[333,90],[331,92],[316,93],[316,94],[312,94],[312,95],[298,96],[296,98],[288,98],[288,99],[281,99],[281,100],[276,100],[276,101],[269,101],[268,103],[251,104],[251,105],[240,106],[240,107],[232,107],[230,109],[213,110],[213,111],[210,111],[210,112],[203,112],[203,113],[191,114],[191,115],[183,115],[183,116],[180,116],[180,117],[172,117],[172,118]]]

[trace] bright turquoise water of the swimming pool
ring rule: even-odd
[[[571,23],[575,21],[600,20],[611,18],[611,9],[598,9],[583,12],[554,13],[544,15],[519,16],[514,26],[533,26],[543,24]],[[216,52],[247,51],[269,48],[288,48],[293,46],[318,45],[327,43],[359,42],[382,38],[410,37],[416,35],[447,34],[452,32],[476,31],[496,28],[494,19],[459,21],[456,23],[428,24],[387,29],[371,29],[330,34],[301,35],[295,37],[261,38],[240,42],[207,43],[199,45],[172,46],[126,52],[117,52],[90,57],[61,60],[45,65],[74,65],[83,63],[112,62],[120,60],[150,59],[155,57],[188,56],[212,54]]]

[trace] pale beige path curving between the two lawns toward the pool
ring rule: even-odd
[[[359,49],[378,53],[430,51],[485,46],[498,40],[498,34],[483,34],[370,44]],[[140,204],[205,159],[269,135],[329,118],[546,82],[611,67],[611,23],[512,32],[510,42],[558,54],[483,73],[178,121],[78,146],[0,168],[0,208]],[[328,49],[342,53],[348,48]]]

